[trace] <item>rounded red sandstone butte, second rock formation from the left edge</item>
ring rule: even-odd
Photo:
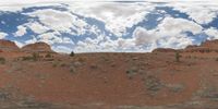
[[[22,48],[22,51],[53,52],[51,50],[51,47],[46,43],[35,43],[26,45]]]

